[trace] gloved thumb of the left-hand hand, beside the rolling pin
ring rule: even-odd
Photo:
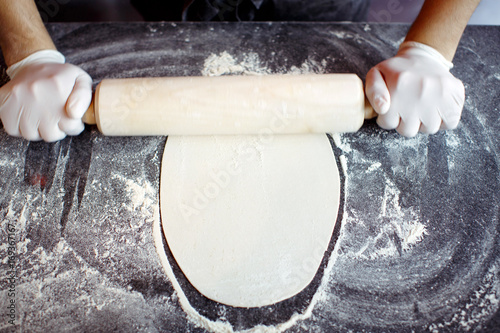
[[[68,117],[81,119],[91,102],[92,78],[87,73],[81,71],[81,74],[75,80],[75,85],[66,103]]]

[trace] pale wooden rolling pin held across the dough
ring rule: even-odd
[[[355,74],[109,79],[83,120],[105,135],[337,133],[366,105]]]

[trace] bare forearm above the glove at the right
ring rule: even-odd
[[[480,0],[426,0],[405,41],[423,43],[451,61]]]

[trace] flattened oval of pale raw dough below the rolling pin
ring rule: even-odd
[[[161,218],[191,284],[236,307],[265,306],[313,279],[337,220],[326,135],[169,136]]]

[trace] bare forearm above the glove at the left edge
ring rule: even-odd
[[[0,0],[0,48],[7,66],[28,55],[56,49],[33,0]]]

